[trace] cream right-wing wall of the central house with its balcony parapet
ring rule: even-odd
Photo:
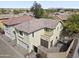
[[[56,26],[56,28],[54,28],[50,33],[48,34],[51,34],[50,37],[42,37],[43,40],[46,40],[48,41],[48,48],[50,48],[50,45],[51,45],[51,41],[53,41],[52,45],[54,46],[56,43],[57,43],[57,40],[59,40],[60,38],[60,33],[63,29],[63,25],[61,24],[61,22],[59,22]],[[45,35],[45,34],[44,34]]]

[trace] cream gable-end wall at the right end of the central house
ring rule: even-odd
[[[59,36],[62,29],[63,25],[59,22],[56,28],[53,30],[53,35],[50,37],[50,42],[53,40],[53,45],[55,45],[57,40],[59,40]]]

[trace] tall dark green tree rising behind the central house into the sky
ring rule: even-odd
[[[36,18],[40,18],[44,14],[43,8],[41,8],[41,5],[39,3],[37,3],[36,1],[34,2],[33,6],[31,7],[31,11],[33,12],[33,14]]]

